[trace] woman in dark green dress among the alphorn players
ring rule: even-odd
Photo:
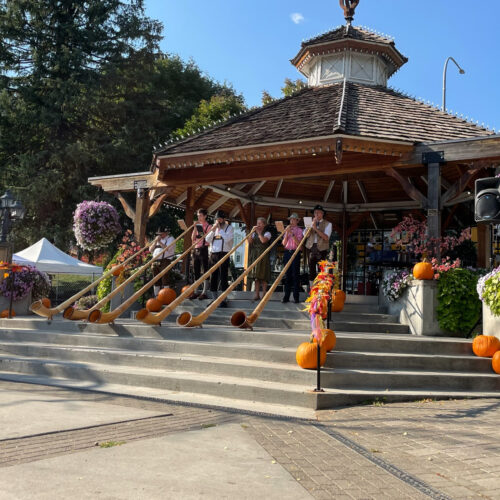
[[[250,245],[249,263],[255,262],[269,246],[271,233],[266,231],[266,219],[258,217],[257,223],[252,229],[252,233],[248,235],[248,244]],[[260,300],[260,288],[262,287],[262,296],[267,291],[267,285],[271,281],[271,261],[267,254],[259,263],[250,271],[249,277],[255,281],[255,294],[253,300]]]

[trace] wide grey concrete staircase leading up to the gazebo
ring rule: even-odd
[[[322,370],[325,392],[312,392],[316,372],[295,362],[310,332],[303,304],[277,297],[253,332],[230,326],[234,311],[255,305],[233,295],[227,309],[192,329],[175,318],[203,310],[197,300],[160,327],[0,320],[0,378],[295,415],[368,401],[500,395],[491,360],[474,356],[470,340],[411,336],[374,302],[348,302],[333,315],[337,345]]]

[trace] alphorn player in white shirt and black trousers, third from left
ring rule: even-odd
[[[233,226],[226,222],[226,214],[219,210],[215,214],[215,223],[212,229],[205,236],[210,244],[210,267],[213,267],[221,260],[227,252],[233,248]],[[217,298],[217,292],[227,290],[227,276],[229,272],[229,259],[227,259],[210,278],[210,292],[212,299]],[[221,307],[227,307],[226,301],[221,303]]]

